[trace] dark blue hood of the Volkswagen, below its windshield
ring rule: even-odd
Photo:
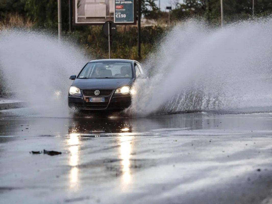
[[[132,79],[75,79],[73,86],[79,89],[117,89],[128,85]]]

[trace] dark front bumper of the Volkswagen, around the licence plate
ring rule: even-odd
[[[89,101],[89,97],[94,98],[94,96],[85,96],[81,91],[82,97],[68,95],[68,106],[80,110],[123,110],[130,106],[130,94],[115,94],[114,92],[115,90],[109,96],[100,96],[105,98],[105,102],[94,103],[86,102]]]

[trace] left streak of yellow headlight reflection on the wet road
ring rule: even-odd
[[[70,138],[68,139],[67,144],[70,145],[70,157],[69,157],[69,165],[72,166],[70,170],[70,188],[78,187],[78,176],[79,176],[79,169],[78,169],[78,162],[79,162],[79,134],[71,133]]]

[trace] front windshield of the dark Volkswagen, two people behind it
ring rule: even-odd
[[[131,63],[90,62],[79,73],[80,79],[132,78]]]

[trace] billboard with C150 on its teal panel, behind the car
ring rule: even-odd
[[[73,24],[136,24],[135,9],[135,0],[73,0]]]

